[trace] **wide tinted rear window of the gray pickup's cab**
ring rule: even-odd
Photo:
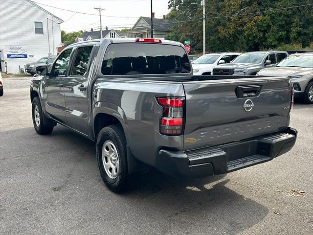
[[[189,73],[188,56],[179,46],[150,43],[109,45],[102,62],[104,75]]]

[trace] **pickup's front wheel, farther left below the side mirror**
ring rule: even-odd
[[[53,131],[53,126],[45,126],[43,119],[44,117],[43,109],[41,107],[41,103],[39,97],[35,97],[32,102],[32,117],[33,117],[33,124],[36,132],[39,135],[47,135]]]

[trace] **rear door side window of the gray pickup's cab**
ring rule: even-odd
[[[93,46],[79,47],[74,60],[72,76],[84,76],[88,69],[89,57]]]

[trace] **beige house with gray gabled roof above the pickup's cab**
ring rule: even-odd
[[[153,18],[153,37],[165,38],[170,32],[170,28],[175,25],[172,20]],[[151,18],[140,16],[130,31],[127,32],[129,38],[143,34],[144,38],[151,37]]]

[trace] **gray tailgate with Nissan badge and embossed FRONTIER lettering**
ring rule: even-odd
[[[183,82],[183,150],[240,141],[285,130],[291,84],[287,77]]]

